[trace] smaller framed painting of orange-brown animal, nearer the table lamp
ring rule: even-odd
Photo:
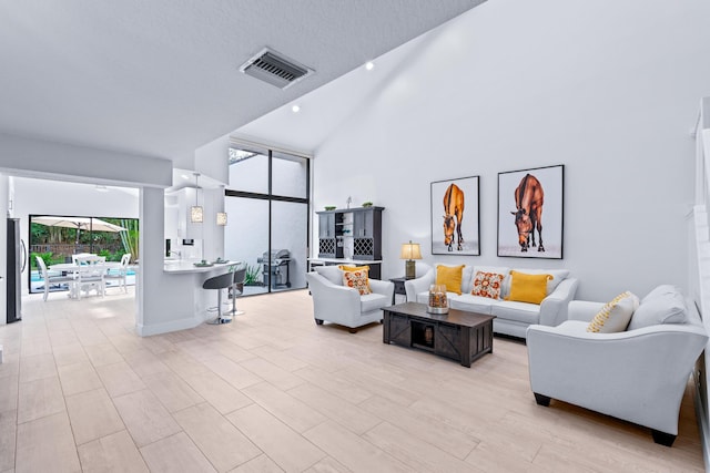
[[[478,176],[432,183],[432,255],[480,255]]]

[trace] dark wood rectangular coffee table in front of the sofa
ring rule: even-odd
[[[385,307],[384,343],[432,351],[460,361],[467,368],[493,352],[495,316],[449,309],[448,313],[426,311],[426,305],[405,302]]]

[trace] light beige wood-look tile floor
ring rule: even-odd
[[[536,405],[519,341],[496,338],[467,369],[385,346],[379,325],[317,327],[307,291],[148,338],[132,295],[23,305],[0,326],[0,472],[703,471],[690,384],[668,449]]]

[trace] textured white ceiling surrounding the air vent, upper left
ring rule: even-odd
[[[0,132],[191,168],[197,147],[481,1],[0,2]],[[264,47],[316,73],[287,90],[240,73]]]

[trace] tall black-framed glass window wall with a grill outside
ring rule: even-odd
[[[308,158],[246,146],[230,150],[224,250],[226,258],[246,264],[245,295],[306,286],[308,195]]]

